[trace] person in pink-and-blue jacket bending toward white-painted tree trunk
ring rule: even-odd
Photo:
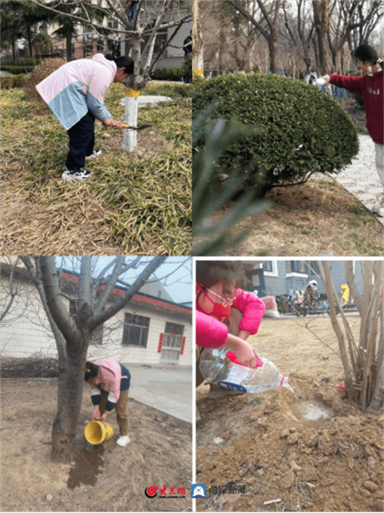
[[[69,152],[61,178],[85,182],[91,172],[84,169],[85,159],[98,157],[94,150],[94,122],[121,128],[105,108],[104,96],[113,82],[123,82],[133,73],[131,57],[104,56],[67,62],[42,80],[36,89],[69,137]]]

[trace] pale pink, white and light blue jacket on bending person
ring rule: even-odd
[[[104,106],[104,96],[115,78],[117,66],[98,53],[91,59],[63,64],[42,80],[36,89],[57,120],[69,130],[88,110],[103,122],[112,117]]]

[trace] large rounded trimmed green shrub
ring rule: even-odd
[[[314,172],[336,173],[357,154],[350,116],[317,87],[281,75],[228,74],[193,80],[193,118],[231,120],[239,132],[212,173],[240,170],[244,187],[265,196],[273,187],[304,183]],[[194,151],[204,147],[200,138]]]

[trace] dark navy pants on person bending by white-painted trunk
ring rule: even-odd
[[[88,110],[87,114],[71,127],[67,133],[69,137],[69,152],[66,158],[68,171],[83,168],[85,156],[94,151],[95,144],[95,117]]]

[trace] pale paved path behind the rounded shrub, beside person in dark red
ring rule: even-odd
[[[353,159],[352,164],[347,166],[337,175],[328,175],[332,180],[336,180],[350,194],[353,194],[364,207],[372,211],[375,203],[383,201],[383,184],[376,171],[375,164],[375,143],[369,135],[358,134],[360,150]],[[321,178],[320,173],[316,178]],[[377,214],[372,214],[381,224],[384,224],[384,218]]]

